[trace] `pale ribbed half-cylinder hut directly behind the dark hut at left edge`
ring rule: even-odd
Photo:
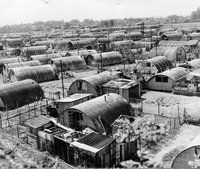
[[[58,74],[51,65],[24,66],[11,68],[9,72],[11,82],[17,82],[25,79],[33,79],[38,83],[57,80]]]

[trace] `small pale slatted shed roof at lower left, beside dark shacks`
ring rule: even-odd
[[[50,122],[52,122],[52,121],[48,117],[40,115],[40,116],[35,117],[33,119],[27,120],[25,124],[27,126],[34,128],[34,129],[37,129],[37,128],[40,128],[40,127],[42,127],[45,124],[48,124]]]

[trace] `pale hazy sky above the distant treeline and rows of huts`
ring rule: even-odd
[[[190,15],[200,0],[0,0],[0,26],[35,21]]]

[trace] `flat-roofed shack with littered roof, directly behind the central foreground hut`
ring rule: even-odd
[[[140,84],[128,79],[114,79],[102,86],[103,94],[116,93],[131,102],[141,96]]]

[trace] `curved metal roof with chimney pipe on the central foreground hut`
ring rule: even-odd
[[[106,131],[110,130],[110,125],[121,114],[131,115],[130,104],[122,96],[115,93],[105,94],[83,102],[69,108],[70,110],[86,114],[94,124],[101,119]]]

